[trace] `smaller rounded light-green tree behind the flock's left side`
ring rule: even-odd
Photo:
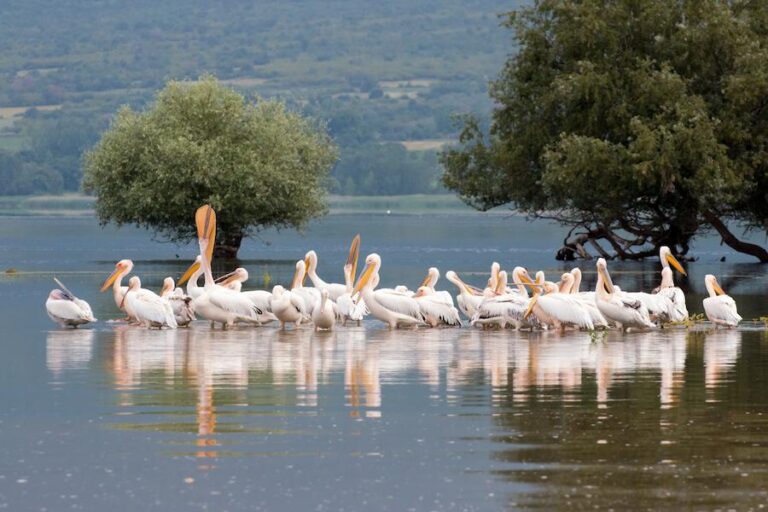
[[[336,147],[278,101],[247,101],[206,76],[169,82],[144,112],[122,108],[86,154],[83,185],[102,223],[137,224],[173,241],[195,236],[194,213],[219,213],[216,254],[243,237],[300,228],[326,211]]]

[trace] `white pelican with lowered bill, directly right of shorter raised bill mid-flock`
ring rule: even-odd
[[[352,290],[352,296],[361,294],[371,314],[389,325],[390,329],[424,324],[419,303],[412,297],[394,291],[374,290],[379,284],[381,257],[376,253],[369,254],[365,263],[365,270]]]

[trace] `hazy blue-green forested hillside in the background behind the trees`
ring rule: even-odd
[[[6,0],[0,175],[19,183],[0,194],[76,189],[80,153],[119,104],[205,72],[327,121],[342,149],[333,191],[375,194],[382,172],[387,193],[439,191],[436,148],[453,113],[489,110],[486,84],[513,50],[498,15],[518,3]],[[367,166],[374,154],[385,165]]]

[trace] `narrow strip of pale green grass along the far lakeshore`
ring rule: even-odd
[[[467,213],[473,211],[456,196],[450,194],[403,196],[330,196],[331,215],[370,214],[424,214]],[[0,196],[0,216],[92,215],[93,198],[82,194],[60,196]]]

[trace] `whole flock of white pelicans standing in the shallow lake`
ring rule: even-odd
[[[352,241],[344,265],[344,283],[327,283],[317,274],[315,251],[296,262],[296,270],[288,288],[277,285],[272,292],[243,291],[248,272],[238,268],[214,279],[211,271],[216,235],[216,213],[208,206],[195,213],[200,254],[179,280],[187,282],[186,291],[176,287],[171,277],[165,278],[160,294],[142,288],[141,280],[132,276],[128,285],[123,279],[133,270],[131,260],[121,260],[104,281],[101,291],[112,289],[115,304],[126,320],[148,328],[170,328],[189,325],[201,317],[212,326],[229,328],[234,324],[265,325],[277,322],[284,329],[312,324],[315,329],[333,329],[337,323],[359,324],[367,315],[390,328],[419,326],[461,326],[461,312],[469,324],[483,328],[514,329],[585,329],[615,327],[618,329],[650,329],[668,322],[688,318],[683,291],[674,284],[673,269],[685,275],[685,269],[667,247],[659,252],[661,282],[651,293],[625,292],[614,285],[605,259],[597,261],[597,284],[594,291],[580,291],[581,270],[574,268],[562,274],[559,282],[547,281],[539,271],[532,278],[523,267],[511,274],[498,263],[484,289],[465,283],[455,272],[446,278],[458,289],[456,302],[447,291],[435,287],[440,271],[432,267],[415,291],[406,286],[377,288],[381,257],[369,254],[365,268],[355,282],[359,259],[360,236]],[[203,286],[199,279],[203,277]],[[509,281],[511,277],[511,283]],[[306,279],[312,286],[304,286]],[[78,299],[56,280],[60,289],[50,292],[46,302],[48,315],[62,326],[95,322],[90,306]],[[736,303],[713,275],[705,277],[709,294],[703,301],[704,311],[716,325],[735,327],[741,321]]]

